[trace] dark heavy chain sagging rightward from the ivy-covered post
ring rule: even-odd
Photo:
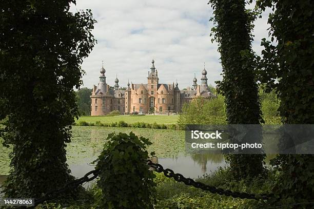
[[[219,195],[226,195],[226,196],[232,196],[234,198],[242,198],[242,199],[268,199],[269,197],[272,197],[270,194],[249,194],[249,193],[243,193],[243,192],[232,192],[228,189],[223,189],[223,188],[216,188],[214,186],[209,186],[206,185],[202,182],[199,181],[194,181],[193,179],[190,178],[185,178],[182,174],[175,174],[173,170],[166,168],[164,169],[161,164],[158,163],[153,163],[151,160],[147,161],[147,164],[155,169],[155,172],[158,173],[164,173],[164,175],[168,178],[173,178],[175,181],[178,182],[183,182],[184,184],[188,186],[194,186],[195,188],[200,188],[204,191],[209,191],[210,193],[213,194],[219,194]]]

